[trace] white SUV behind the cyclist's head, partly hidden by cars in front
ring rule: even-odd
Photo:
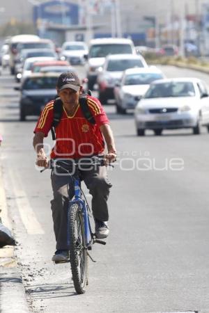
[[[86,58],[86,78],[88,89],[93,89],[98,76],[98,68],[104,64],[109,54],[137,54],[132,40],[127,38],[97,38],[92,39]]]

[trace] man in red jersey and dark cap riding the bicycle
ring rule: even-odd
[[[82,95],[82,86],[75,72],[65,72],[60,75],[56,83],[56,90],[61,99],[63,111],[59,125],[56,126],[56,143],[51,152],[51,159],[82,160],[92,156],[104,155],[104,141],[107,145],[106,163],[116,161],[116,147],[114,136],[109,126],[102,105],[95,97],[86,96],[88,109],[93,115],[95,124],[89,122],[79,104]],[[33,147],[36,150],[36,164],[47,167],[48,159],[43,147],[44,137],[47,137],[54,120],[54,100],[47,103],[40,114],[33,138]],[[82,163],[82,162],[81,162]],[[69,163],[70,166],[70,163]],[[81,167],[82,179],[92,195],[92,210],[95,219],[95,234],[99,239],[109,234],[107,220],[109,219],[107,199],[111,184],[107,179],[106,166]],[[52,171],[52,190],[54,199],[51,201],[54,234],[56,237],[56,252],[52,257],[54,262],[63,262],[68,259],[67,244],[67,209],[69,191],[73,189],[68,175],[64,172]],[[72,195],[72,194],[71,194]],[[70,196],[71,196],[70,195]],[[73,196],[73,195],[72,195]]]

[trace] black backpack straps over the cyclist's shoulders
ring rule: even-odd
[[[84,118],[88,120],[91,124],[95,124],[95,119],[91,113],[91,111],[88,108],[87,104],[87,95],[91,95],[91,90],[88,90],[86,93],[82,93],[79,97],[79,105],[82,109],[82,113],[84,114]],[[51,132],[52,132],[52,139],[55,141],[56,139],[56,127],[59,125],[59,122],[61,120],[61,116],[63,113],[63,106],[62,101],[60,97],[56,97],[54,99],[54,107],[53,107],[53,113],[54,113],[54,119],[52,122]]]

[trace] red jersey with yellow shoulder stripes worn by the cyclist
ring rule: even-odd
[[[80,106],[69,116],[63,107],[63,114],[56,127],[56,143],[51,158],[79,158],[104,152],[104,138],[100,126],[109,124],[102,105],[95,97],[87,97],[88,108],[95,118],[95,125],[86,120]],[[48,136],[53,122],[54,100],[46,104],[38,119],[34,133],[41,131]]]

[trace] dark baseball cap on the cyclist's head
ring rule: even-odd
[[[72,90],[78,91],[80,86],[81,82],[75,72],[62,73],[56,82],[56,87],[59,90],[70,88]]]

